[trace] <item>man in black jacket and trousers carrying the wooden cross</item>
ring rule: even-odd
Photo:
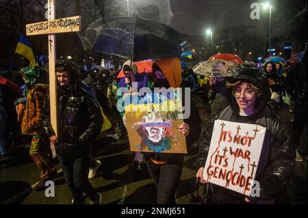
[[[49,138],[63,169],[64,177],[73,204],[84,204],[84,195],[90,204],[100,204],[98,194],[88,180],[90,146],[99,135],[103,117],[99,104],[81,87],[81,80],[73,62],[57,62],[55,66],[58,85],[58,131],[56,136],[51,126]]]

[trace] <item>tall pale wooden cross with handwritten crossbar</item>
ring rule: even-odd
[[[71,16],[55,20],[55,0],[48,0],[48,21],[26,25],[26,35],[48,34],[49,44],[49,96],[51,126],[55,135],[57,130],[57,78],[55,77],[55,33],[66,33],[81,30],[81,16]]]

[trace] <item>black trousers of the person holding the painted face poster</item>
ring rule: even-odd
[[[157,187],[157,204],[175,204],[175,191],[183,171],[183,158],[172,162],[156,164],[146,159],[146,167]]]

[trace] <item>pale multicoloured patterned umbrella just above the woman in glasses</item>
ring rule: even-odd
[[[192,70],[205,77],[233,77],[238,70],[238,65],[225,60],[211,59],[200,62]]]

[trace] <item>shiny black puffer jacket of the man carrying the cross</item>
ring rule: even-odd
[[[60,143],[86,143],[99,135],[101,111],[84,90],[74,93],[71,87],[60,89],[58,108]]]

